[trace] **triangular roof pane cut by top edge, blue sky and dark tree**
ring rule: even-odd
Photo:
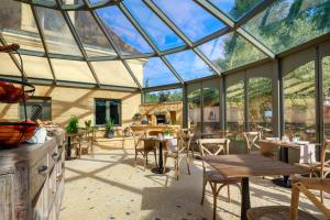
[[[218,9],[233,20],[239,20],[248,11],[262,2],[262,0],[210,0]]]

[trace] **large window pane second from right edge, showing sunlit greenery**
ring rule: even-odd
[[[284,77],[285,134],[316,141],[315,63],[310,62]]]

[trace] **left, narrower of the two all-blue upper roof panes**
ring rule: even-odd
[[[130,12],[161,50],[183,46],[185,43],[142,1],[123,1]]]

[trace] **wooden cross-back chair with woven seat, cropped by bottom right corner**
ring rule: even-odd
[[[321,178],[294,178],[293,190],[292,190],[292,205],[286,206],[271,206],[271,207],[256,207],[248,211],[249,220],[262,220],[262,219],[274,219],[283,220],[289,219],[297,220],[316,220],[314,216],[298,209],[299,193],[301,191],[323,215],[327,219],[330,219],[330,209],[321,204],[316,196],[309,189],[326,190],[330,189],[330,179]]]

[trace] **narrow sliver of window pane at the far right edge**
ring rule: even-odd
[[[330,139],[330,56],[322,59],[324,136]]]

